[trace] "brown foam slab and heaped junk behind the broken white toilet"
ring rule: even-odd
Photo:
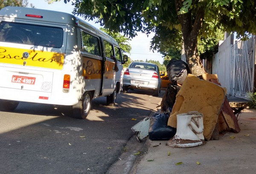
[[[224,130],[240,131],[217,75],[204,74],[200,79],[189,74],[181,60],[170,61],[166,69],[171,83],[160,106],[162,113],[170,113],[168,126],[177,128],[177,114],[197,111],[204,115],[205,140],[218,139],[219,132]]]

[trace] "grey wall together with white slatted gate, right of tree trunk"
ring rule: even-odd
[[[247,98],[247,92],[253,92],[254,64],[255,36],[233,44],[230,35],[212,58],[212,74],[218,75],[228,95]]]

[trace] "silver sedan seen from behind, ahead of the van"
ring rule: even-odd
[[[132,62],[123,75],[122,92],[128,89],[152,90],[153,96],[160,93],[162,79],[156,64],[147,62]]]

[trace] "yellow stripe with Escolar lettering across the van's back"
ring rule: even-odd
[[[24,56],[26,52],[29,53],[28,58]],[[64,54],[0,46],[0,63],[61,70]]]

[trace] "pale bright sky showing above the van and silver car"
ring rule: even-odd
[[[72,14],[73,6],[70,3],[65,4],[64,0],[60,2],[55,2],[52,4],[48,4],[46,0],[28,0],[29,3],[32,3],[37,9],[47,9],[54,10],[59,12],[66,12]],[[96,28],[100,28],[99,24],[94,23],[93,21],[86,21]],[[132,38],[129,43],[131,44],[131,54],[128,55],[131,60],[154,60],[159,61],[160,64],[163,64],[163,55],[159,52],[152,52],[150,48],[151,38],[154,36],[154,33],[151,33],[149,37],[147,35],[138,32],[137,36]]]

